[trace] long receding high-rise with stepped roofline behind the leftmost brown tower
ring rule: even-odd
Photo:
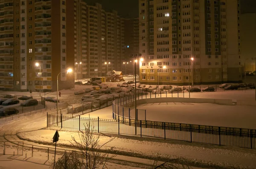
[[[103,10],[99,3],[90,5],[76,1],[80,3],[75,11],[76,79],[105,76],[108,71],[121,70],[124,20],[116,11]]]

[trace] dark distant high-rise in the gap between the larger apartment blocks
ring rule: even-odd
[[[134,73],[134,62],[131,62],[131,54],[139,53],[139,18],[124,19],[125,26],[125,56],[122,60],[122,72],[125,74]],[[134,61],[134,60],[133,60]],[[126,66],[125,66],[125,65]],[[137,64],[137,70],[139,72],[139,65]],[[137,73],[138,73],[137,72]]]

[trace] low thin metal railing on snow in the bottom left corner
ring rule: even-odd
[[[33,163],[40,163],[44,165],[52,165],[54,161],[55,148],[47,146],[38,146],[32,144],[25,144],[23,142],[15,141],[0,141],[0,155],[13,155],[13,158],[20,161],[27,161]],[[56,161],[64,153],[71,152],[80,153],[78,150],[56,149]]]

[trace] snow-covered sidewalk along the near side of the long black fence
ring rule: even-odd
[[[55,130],[38,130],[21,132],[17,135],[23,140],[52,145],[54,133]],[[58,146],[71,146],[71,135],[79,140],[77,132],[59,130],[59,135]],[[128,158],[149,158],[153,153],[158,152],[162,159],[181,157],[189,160],[189,164],[195,167],[239,169],[256,166],[255,149],[105,134],[100,136],[99,144],[107,142],[112,137],[115,137],[115,139],[107,144],[105,148],[115,146],[115,154],[128,156]]]

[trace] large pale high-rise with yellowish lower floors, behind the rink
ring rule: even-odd
[[[141,83],[241,81],[240,0],[139,0],[139,10]]]

